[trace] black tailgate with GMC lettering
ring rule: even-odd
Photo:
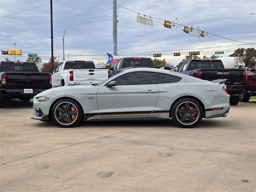
[[[204,80],[226,79],[227,82],[243,82],[244,72],[241,69],[201,69]]]

